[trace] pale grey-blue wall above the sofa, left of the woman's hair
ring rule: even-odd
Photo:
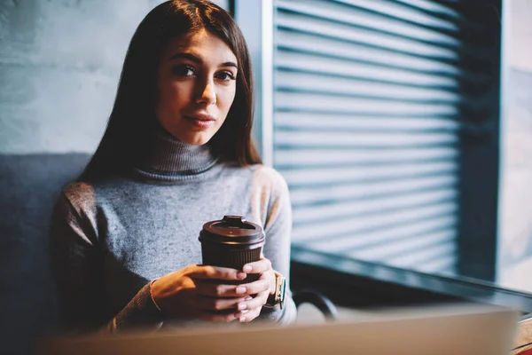
[[[0,2],[0,153],[92,152],[129,39],[160,2]]]

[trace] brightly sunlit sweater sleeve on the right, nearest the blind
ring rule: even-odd
[[[286,277],[285,305],[281,309],[262,308],[260,319],[291,325],[296,319],[297,310],[290,290],[290,237],[292,233],[292,207],[290,194],[285,179],[271,168],[263,167],[262,173],[269,184],[262,190],[262,201],[267,201],[264,218],[264,233],[266,243],[263,248],[264,256],[270,259],[272,268]],[[269,195],[269,196],[266,196]]]

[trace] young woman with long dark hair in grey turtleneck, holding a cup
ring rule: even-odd
[[[174,0],[148,13],[129,44],[106,133],[52,217],[67,327],[295,319],[290,292],[282,307],[275,297],[289,272],[289,194],[255,152],[252,103],[246,42],[227,12]],[[202,225],[224,215],[262,225],[260,261],[243,270],[199,265]],[[220,282],[247,273],[259,280]]]

